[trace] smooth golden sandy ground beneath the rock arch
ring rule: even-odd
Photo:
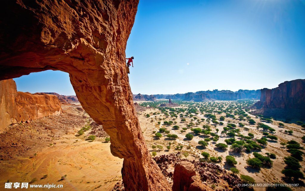
[[[76,116],[77,117],[77,116]],[[80,116],[78,116],[80,117]],[[32,184],[62,184],[63,188],[43,188],[26,190],[112,190],[121,180],[123,159],[110,153],[110,143],[105,139],[93,142],[85,140],[85,135],[74,133],[60,136],[52,145],[37,148],[36,151],[24,153],[23,156],[2,160],[0,166],[0,190],[4,182],[30,182]],[[76,135],[76,136],[75,136]],[[33,135],[35,136],[35,135]],[[33,155],[36,152],[36,157]],[[43,178],[47,175],[46,178]],[[61,177],[66,175],[64,180]],[[14,190],[24,190],[15,189]],[[8,189],[9,190],[9,189]]]

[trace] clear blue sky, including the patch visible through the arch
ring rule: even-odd
[[[135,57],[134,94],[275,88],[304,79],[305,0],[140,0],[126,56]],[[18,91],[75,95],[59,71],[15,81]]]

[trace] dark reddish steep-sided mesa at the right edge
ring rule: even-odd
[[[305,79],[285,81],[277,88],[260,90],[260,101],[253,114],[270,117],[305,119]]]

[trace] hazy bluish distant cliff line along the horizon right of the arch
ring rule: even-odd
[[[209,100],[237,100],[237,99],[260,99],[260,89],[258,90],[238,90],[236,92],[230,90],[213,90],[188,92],[184,94],[155,94],[155,95],[133,95],[136,101],[145,100],[153,101],[155,99],[173,99],[182,101],[209,101]]]

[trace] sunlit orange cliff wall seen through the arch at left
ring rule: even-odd
[[[17,92],[13,79],[0,81],[0,133],[10,124],[58,115],[62,112],[56,96]]]

